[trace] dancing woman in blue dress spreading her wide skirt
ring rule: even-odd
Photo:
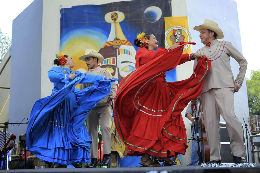
[[[74,61],[58,53],[48,77],[54,84],[51,96],[34,104],[27,131],[27,148],[42,161],[54,163],[54,168],[72,163],[90,162],[91,138],[84,120],[98,101],[110,93],[115,79],[72,71]],[[75,92],[78,83],[93,86]]]

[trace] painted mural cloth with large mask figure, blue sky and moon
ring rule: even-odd
[[[104,56],[99,65],[119,79],[135,69],[134,46],[137,33],[152,33],[164,47],[164,17],[172,16],[169,0],[121,1],[102,5],[80,5],[60,10],[60,51],[71,55],[73,70],[86,72],[84,61],[78,58],[85,49],[95,49]],[[167,72],[171,81],[176,72]],[[120,83],[120,80],[119,80]]]

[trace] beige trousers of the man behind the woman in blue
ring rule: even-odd
[[[92,109],[87,116],[88,133],[92,139],[90,148],[91,159],[97,158],[97,129],[100,120],[100,130],[103,139],[103,154],[111,153],[110,120],[112,116],[112,106],[99,106]]]

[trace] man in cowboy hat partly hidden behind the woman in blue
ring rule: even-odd
[[[86,49],[85,55],[79,58],[86,62],[88,66],[88,75],[100,75],[100,76],[112,76],[109,70],[101,68],[98,63],[104,61],[104,57],[97,53],[93,49]],[[80,89],[87,88],[93,84],[84,84],[80,85]],[[90,148],[90,157],[91,164],[88,165],[89,168],[94,168],[98,165],[97,159],[97,129],[99,126],[99,120],[101,124],[101,132],[103,139],[103,154],[104,158],[99,164],[100,166],[107,166],[111,162],[111,134],[110,134],[110,120],[112,116],[112,105],[117,92],[117,86],[113,82],[111,92],[108,96],[103,98],[97,103],[97,106],[88,114],[87,116],[87,128],[88,133],[92,139],[92,144]]]

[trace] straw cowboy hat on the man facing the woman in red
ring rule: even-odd
[[[217,23],[209,19],[206,19],[202,25],[196,26],[193,29],[199,32],[200,29],[210,29],[211,31],[214,31],[217,34],[217,39],[224,38],[224,34],[222,30],[218,27]]]

